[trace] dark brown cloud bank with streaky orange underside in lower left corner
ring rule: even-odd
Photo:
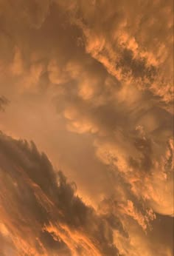
[[[0,158],[1,221],[16,253],[119,255],[105,218],[74,195],[74,183],[35,144],[1,133]]]

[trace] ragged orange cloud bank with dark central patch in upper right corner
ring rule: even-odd
[[[76,1],[73,7],[57,2],[71,10],[72,22],[85,36],[87,53],[108,73],[159,95],[172,111],[172,1]]]

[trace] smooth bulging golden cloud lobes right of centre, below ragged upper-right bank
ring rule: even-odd
[[[64,87],[63,94],[58,96],[58,104],[67,101],[63,111],[68,120],[67,127],[73,132],[94,134],[97,156],[118,170],[118,175],[130,184],[130,192],[137,198],[150,201],[150,205],[151,201],[158,201],[162,209],[164,204],[157,199],[156,185],[168,187],[162,190],[164,202],[170,201],[170,206],[165,206],[165,213],[173,215],[173,182],[170,178],[173,167],[170,161],[168,167],[164,164],[168,161],[164,155],[170,150],[168,141],[172,138],[173,117],[160,107],[159,98],[150,92],[139,93],[131,86],[120,89],[119,84],[115,82],[112,86],[111,81],[110,87],[105,87],[108,79],[105,78],[102,92],[88,101],[69,94]],[[166,172],[170,173],[169,178]],[[125,190],[125,186],[122,189]]]

